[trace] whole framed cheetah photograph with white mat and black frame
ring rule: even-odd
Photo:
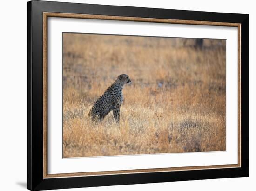
[[[29,190],[249,176],[249,15],[27,5]]]

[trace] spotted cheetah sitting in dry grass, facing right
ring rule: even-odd
[[[120,107],[123,102],[122,89],[125,84],[130,84],[131,80],[128,75],[119,75],[115,82],[100,96],[89,111],[92,121],[102,121],[110,111],[113,111],[115,122],[119,123]]]

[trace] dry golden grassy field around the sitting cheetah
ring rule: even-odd
[[[222,151],[225,41],[63,34],[63,157]],[[119,74],[120,124],[89,109]]]

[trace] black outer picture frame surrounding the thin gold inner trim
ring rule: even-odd
[[[43,12],[241,24],[241,167],[86,177],[43,176]],[[249,15],[50,1],[27,3],[27,188],[48,190],[249,176]]]

